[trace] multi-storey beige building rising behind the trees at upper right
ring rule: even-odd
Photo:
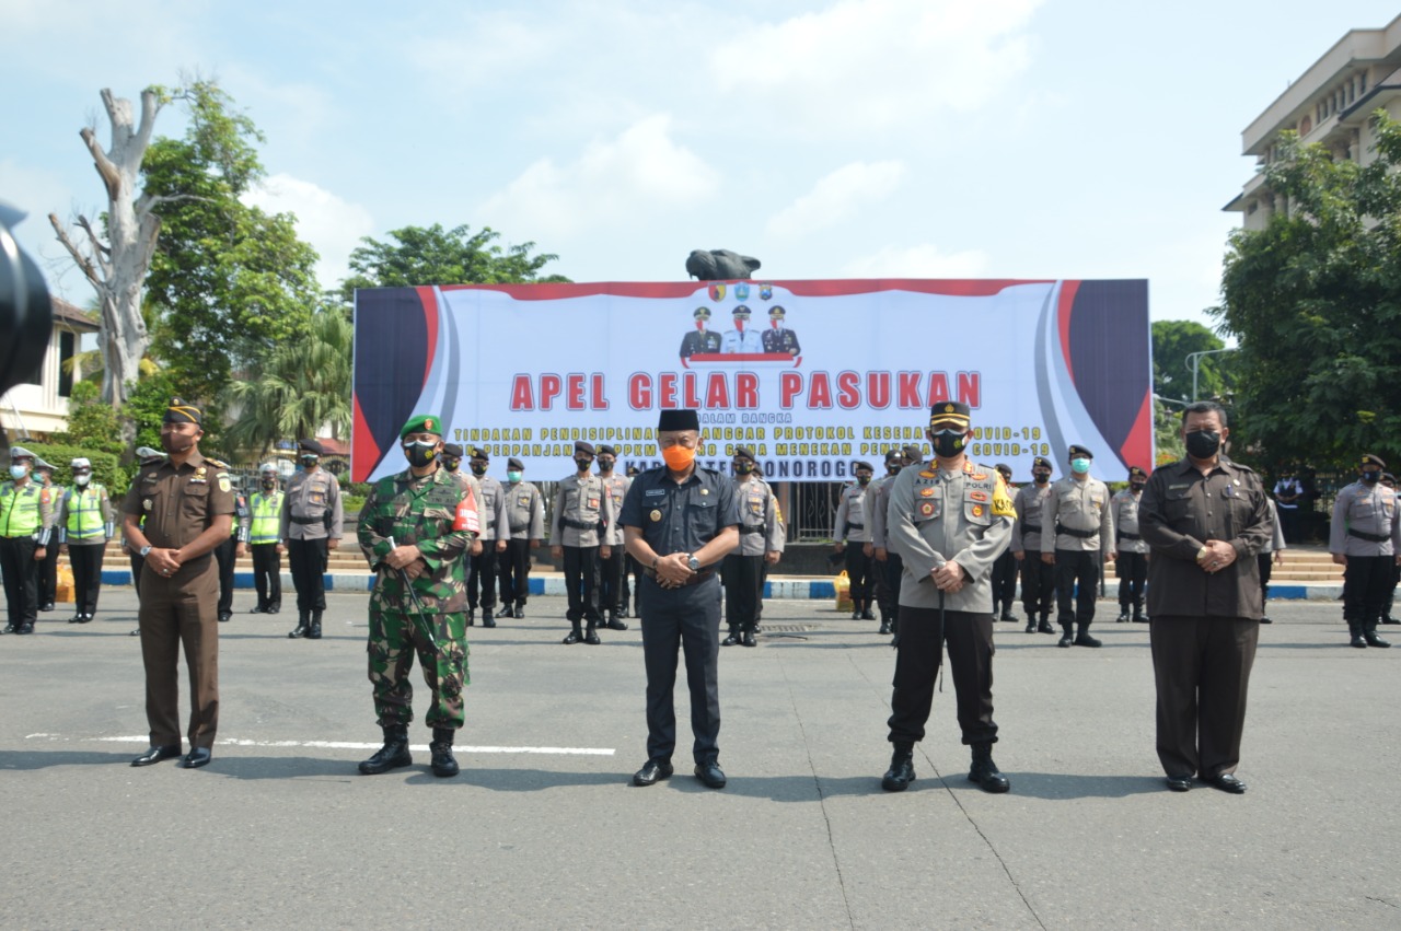
[[[1380,29],[1352,29],[1338,39],[1245,127],[1241,148],[1268,165],[1279,134],[1292,129],[1304,143],[1321,143],[1337,158],[1366,165],[1376,157],[1372,113],[1377,108],[1401,118],[1401,15]],[[1224,210],[1243,214],[1245,230],[1264,230],[1288,204],[1257,174]]]

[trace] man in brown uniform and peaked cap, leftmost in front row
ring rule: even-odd
[[[185,769],[210,760],[219,727],[219,567],[212,556],[233,526],[234,486],[228,472],[199,452],[203,414],[171,398],[161,421],[168,458],[143,465],[122,505],[126,540],[140,553],[142,664],[150,748],[132,766],[179,756],[181,648],[189,665],[189,753]]]

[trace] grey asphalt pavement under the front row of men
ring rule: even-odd
[[[677,774],[629,785],[636,620],[565,647],[553,596],[469,629],[458,777],[429,773],[422,717],[415,766],[366,777],[366,603],[331,595],[317,643],[287,640],[286,610],[221,626],[202,770],[127,764],[147,742],[130,589],[91,624],[60,605],[0,637],[0,927],[1401,927],[1401,648],[1349,648],[1334,602],[1271,605],[1240,797],[1164,788],[1147,626],[1112,602],[1101,650],[996,626],[1006,795],[967,781],[951,679],[916,783],[881,791],[894,652],[813,601],[768,602],[759,647],[722,650],[722,791],[691,776],[684,672]]]

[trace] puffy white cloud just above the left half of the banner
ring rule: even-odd
[[[720,176],[670,132],[671,118],[658,113],[616,139],[588,143],[573,162],[541,158],[492,195],[481,213],[496,228],[530,230],[531,238],[546,239],[699,203],[719,188]]]

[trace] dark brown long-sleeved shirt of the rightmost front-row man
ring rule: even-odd
[[[1154,469],[1139,500],[1152,547],[1147,613],[1259,620],[1259,553],[1274,531],[1265,489],[1251,469],[1222,458],[1203,476],[1191,459]],[[1236,560],[1212,574],[1196,564],[1206,540],[1224,540]]]

